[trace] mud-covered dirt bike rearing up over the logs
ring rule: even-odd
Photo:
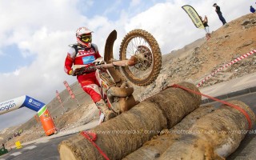
[[[113,46],[116,38],[117,32],[113,30],[106,39],[104,59],[96,59],[94,66],[90,67],[73,66],[73,70],[76,75],[96,70],[102,98],[110,110],[121,114],[138,104],[130,82],[137,86],[147,86],[154,82],[161,70],[162,55],[158,42],[150,33],[132,30],[122,39],[119,60],[114,60]],[[100,121],[103,118],[104,114],[101,114]]]

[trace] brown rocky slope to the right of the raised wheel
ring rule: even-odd
[[[246,14],[198,41],[163,55],[162,70],[151,86],[136,87],[135,95],[143,99],[162,87],[181,81],[197,85],[209,74],[235,58],[256,49],[256,14]],[[256,54],[226,67],[202,84],[211,86],[256,71]],[[143,90],[143,91],[142,91]],[[139,94],[142,93],[142,94]]]

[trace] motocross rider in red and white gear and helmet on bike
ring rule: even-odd
[[[66,74],[73,75],[73,65],[86,65],[87,67],[94,66],[94,60],[100,58],[98,53],[98,46],[92,43],[92,31],[86,27],[80,27],[76,31],[77,44],[70,47],[67,52],[64,70]],[[115,114],[109,107],[106,106],[106,102],[102,99],[102,95],[99,90],[99,83],[95,75],[95,70],[90,73],[77,75],[78,82],[82,86],[87,94],[90,95],[96,106],[104,114],[105,121],[110,118],[114,118]]]

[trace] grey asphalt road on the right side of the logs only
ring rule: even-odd
[[[250,108],[254,111],[256,114],[256,92],[251,94],[244,94],[235,98],[229,98],[225,99],[227,100],[239,100],[244,103],[246,103],[247,106],[250,106]],[[212,102],[208,103],[211,105],[214,105],[216,107],[220,106],[221,104],[219,102]],[[253,132],[251,134],[246,134],[246,137],[242,140],[240,146],[238,149],[230,155],[230,157],[226,158],[227,160],[254,160],[256,159],[256,126],[254,123],[254,128],[252,129]]]

